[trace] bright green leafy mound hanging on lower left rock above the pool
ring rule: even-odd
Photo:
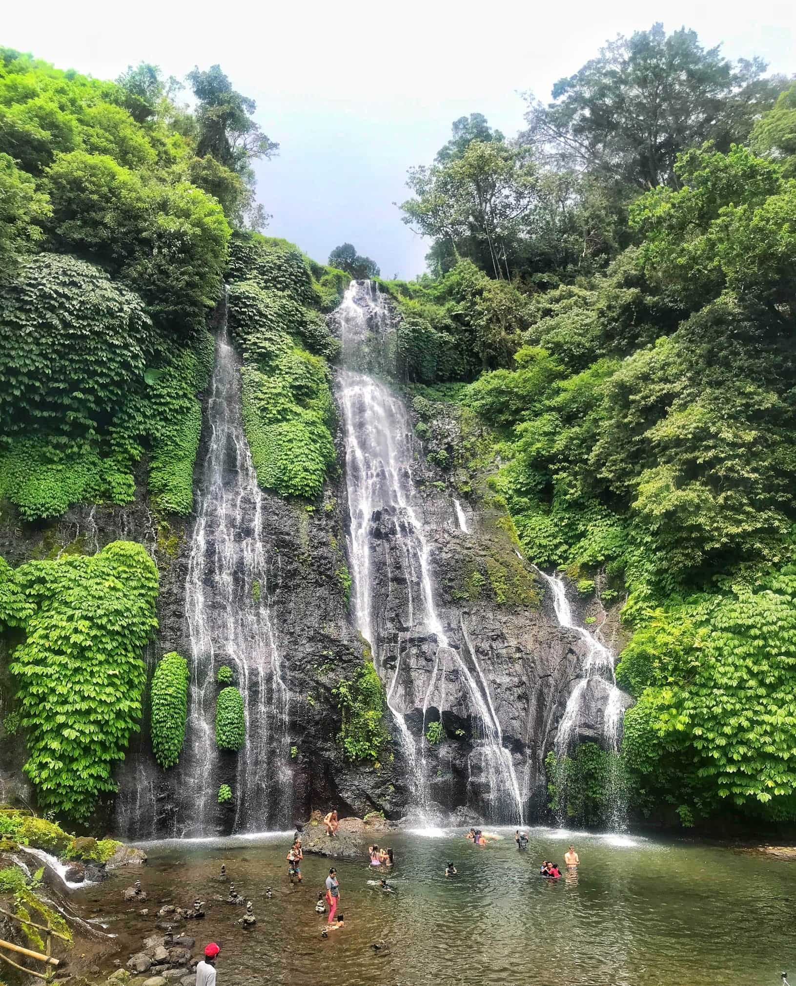
[[[115,791],[111,766],[141,717],[157,593],[152,560],[127,541],[16,570],[0,560],[0,625],[25,635],[10,670],[41,808],[85,819]]]

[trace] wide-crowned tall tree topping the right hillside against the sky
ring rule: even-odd
[[[760,58],[733,64],[685,28],[619,35],[553,88],[529,94],[523,139],[567,166],[630,188],[676,185],[677,155],[712,140],[719,151],[747,139],[786,84],[764,79]]]

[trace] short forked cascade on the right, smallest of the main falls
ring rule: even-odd
[[[566,599],[564,580],[556,576],[546,575],[540,569],[536,569],[536,571],[553,592],[553,608],[561,626],[567,630],[574,630],[586,644],[586,657],[583,662],[581,677],[567,699],[564,716],[559,724],[556,736],[556,756],[561,760],[577,741],[578,727],[583,717],[586,696],[590,694],[591,700],[594,701],[594,693],[596,692],[599,695],[597,699],[600,706],[598,718],[602,723],[602,740],[608,752],[615,754],[611,758],[610,790],[608,792],[611,802],[612,825],[617,829],[624,828],[627,823],[627,806],[624,800],[622,778],[616,754],[619,753],[622,742],[622,723],[625,717],[627,696],[621,688],[617,687],[614,656],[594,634],[575,623],[569,600]]]

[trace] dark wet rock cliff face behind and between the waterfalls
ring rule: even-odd
[[[207,453],[207,432],[205,424],[196,482]],[[445,444],[453,448],[455,431],[447,429],[445,435]],[[290,692],[289,752],[276,768],[274,782],[286,793],[285,802],[267,818],[247,814],[241,795],[251,779],[240,767],[240,755],[218,753],[206,774],[207,790],[215,801],[220,785],[229,783],[241,807],[238,801],[214,805],[206,833],[287,828],[313,809],[336,807],[341,814],[358,815],[383,810],[388,818],[416,809],[407,750],[389,714],[392,744],[379,764],[350,763],[336,741],[341,724],[334,688],[341,679],[351,679],[364,658],[343,577],[350,524],[342,429],[337,446],[340,472],[327,483],[321,502],[306,509],[268,493],[263,502],[270,612]],[[521,799],[533,817],[547,801],[544,757],[555,743],[566,699],[578,679],[583,641],[560,628],[551,599],[530,567],[516,557],[499,512],[475,499],[463,500],[469,529],[462,530],[452,487],[445,486],[449,473],[426,461],[419,443],[414,453],[408,466],[420,491],[436,606],[449,648],[440,649],[425,628],[418,573],[407,568],[402,542],[406,518],[379,509],[369,521],[376,668],[423,758],[431,813],[441,818],[458,811],[465,821],[514,817],[511,799],[496,799],[495,778],[480,746],[483,716],[474,706],[469,675],[491,703],[489,715],[494,713]],[[143,491],[145,476],[138,478]],[[184,655],[189,664],[192,660],[185,609],[193,523],[193,518],[159,522],[143,492],[124,508],[74,508],[54,525],[26,525],[6,511],[0,515],[0,554],[19,564],[54,557],[64,547],[93,552],[120,537],[146,544],[161,586],[158,635],[144,656],[151,678],[156,662],[169,651]],[[0,651],[5,646],[7,638],[0,638]],[[0,653],[0,718],[11,705],[12,692],[7,661]],[[182,783],[191,750],[183,749],[179,766],[167,772],[158,767],[149,739],[148,703],[147,689],[141,733],[132,738],[125,761],[116,768],[120,792],[111,807],[113,816],[93,827],[129,838],[199,834],[191,830],[195,805]],[[584,710],[581,738],[601,735],[596,696]],[[213,715],[211,702],[206,710],[211,730]],[[431,743],[425,734],[440,717],[441,735]],[[255,719],[249,717],[251,729],[258,728]],[[24,738],[7,741],[0,735],[0,801],[22,797],[33,802],[21,772],[25,758]],[[135,851],[124,849],[108,867],[137,862]]]

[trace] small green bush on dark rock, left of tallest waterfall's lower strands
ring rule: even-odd
[[[389,736],[384,728],[386,699],[371,661],[343,679],[334,689],[342,715],[337,741],[349,760],[377,760]]]

